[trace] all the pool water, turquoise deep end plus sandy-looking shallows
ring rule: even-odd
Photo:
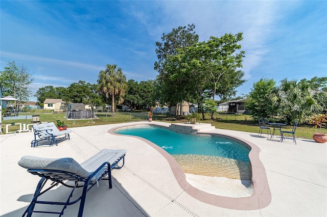
[[[214,134],[182,134],[156,126],[117,129],[147,139],[171,154],[185,173],[251,180],[249,149]]]

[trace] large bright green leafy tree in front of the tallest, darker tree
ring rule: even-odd
[[[238,42],[242,39],[242,33],[225,34],[220,38],[210,37],[207,42],[175,48],[175,52],[166,55],[161,64],[162,73],[157,77],[160,101],[177,104],[196,100],[202,105],[206,98],[204,92],[209,93],[214,102],[218,94],[235,95],[236,88],[245,82],[244,72],[239,70],[244,57],[244,51],[238,52],[241,48]]]

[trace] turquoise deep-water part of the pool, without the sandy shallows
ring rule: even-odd
[[[249,162],[247,148],[216,136],[182,134],[155,126],[119,129],[115,130],[115,133],[142,137],[165,149],[171,155],[219,156]]]

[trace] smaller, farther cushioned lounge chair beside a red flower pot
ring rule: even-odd
[[[31,147],[41,146],[41,145],[58,145],[58,140],[70,139],[69,132],[71,129],[59,130],[55,123],[41,123],[33,125],[34,130],[34,140],[31,142]],[[40,143],[40,141],[47,140],[49,143]]]

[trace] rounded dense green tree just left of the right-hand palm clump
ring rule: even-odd
[[[261,78],[259,82],[253,84],[248,95],[249,100],[245,103],[245,108],[250,111],[253,120],[262,117],[272,118],[277,113],[273,101],[275,84],[273,79],[268,78]]]

